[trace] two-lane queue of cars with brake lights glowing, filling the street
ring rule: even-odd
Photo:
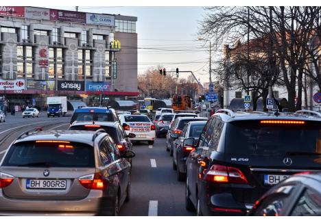
[[[321,215],[313,113],[144,110],[80,107],[68,130],[20,135],[0,163],[0,215],[119,215],[130,201],[133,142],[160,137],[185,181],[187,211]]]

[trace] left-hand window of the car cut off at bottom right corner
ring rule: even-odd
[[[265,198],[254,215],[256,216],[279,216],[286,207],[287,194],[272,194]]]

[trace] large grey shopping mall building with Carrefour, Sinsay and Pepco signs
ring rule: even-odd
[[[135,99],[136,17],[0,6],[0,101]]]

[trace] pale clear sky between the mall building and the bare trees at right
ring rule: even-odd
[[[47,6],[75,10],[75,7]],[[209,81],[209,42],[198,40],[205,10],[198,7],[98,7],[79,6],[80,12],[136,16],[138,73],[162,66],[166,70],[191,70],[202,83]],[[187,73],[180,77],[187,77]]]

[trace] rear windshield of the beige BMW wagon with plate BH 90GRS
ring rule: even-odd
[[[71,142],[20,142],[12,145],[2,166],[95,167],[93,146]]]

